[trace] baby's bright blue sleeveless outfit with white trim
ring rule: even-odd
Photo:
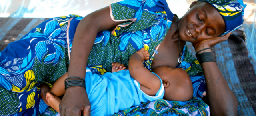
[[[130,76],[129,70],[98,75],[87,69],[86,92],[92,106],[92,116],[114,115],[120,110],[162,99],[164,96],[164,86],[158,75],[161,87],[155,96],[149,96],[140,90],[140,84]]]

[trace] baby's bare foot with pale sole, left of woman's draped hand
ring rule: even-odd
[[[58,98],[57,96],[53,95],[53,94],[50,94],[49,92],[46,93],[46,100],[48,102],[48,104],[50,104],[50,106],[56,110],[57,112],[60,113],[60,109],[59,109],[59,106],[60,106],[60,101],[61,99]]]

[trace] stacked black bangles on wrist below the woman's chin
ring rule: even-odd
[[[196,57],[197,57],[198,62],[200,64],[202,64],[204,62],[211,62],[211,61],[215,62],[215,60],[212,57],[212,52],[204,52],[204,53],[201,53],[201,54],[196,54]]]

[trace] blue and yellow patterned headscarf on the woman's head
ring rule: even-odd
[[[226,29],[222,35],[228,34],[240,28],[244,22],[244,8],[242,0],[198,0],[211,4],[223,17]]]

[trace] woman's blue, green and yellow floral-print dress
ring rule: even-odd
[[[154,48],[164,40],[174,16],[165,0],[124,0],[111,4],[110,8],[112,20],[127,22],[120,24],[114,30],[105,30],[97,34],[87,63],[88,68],[96,74],[110,72],[112,62],[120,62],[128,66],[130,56],[143,47],[154,59],[152,56]],[[32,29],[19,41],[10,43],[0,52],[0,116],[56,114],[43,102],[38,86],[46,83],[51,87],[68,71],[72,40],[80,20],[82,17],[77,15],[51,18]],[[68,23],[70,25],[67,35]],[[206,91],[202,68],[186,46],[182,58],[184,61],[181,68],[191,77],[194,97],[201,97]],[[144,61],[144,65],[151,70],[150,60]],[[157,108],[162,110],[157,110],[156,107],[150,107],[152,110],[144,110],[146,107],[140,106],[136,108],[136,112],[154,110],[160,113],[158,111],[182,106],[183,110],[190,109],[190,112],[183,112],[182,115],[193,115],[196,114],[195,112],[209,114],[208,106],[200,98],[194,98],[194,104],[190,104],[192,101],[162,101],[168,104],[168,107],[162,102],[155,101]],[[147,104],[150,103],[142,106]],[[128,110],[132,111],[132,109]],[[176,107],[172,112],[180,114],[181,110],[180,107]]]

